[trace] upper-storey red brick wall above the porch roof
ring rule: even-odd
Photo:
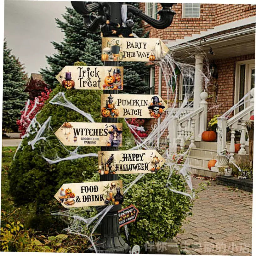
[[[145,3],[139,8],[145,12]],[[158,10],[161,5],[158,4]],[[176,12],[172,24],[165,29],[155,29],[143,21],[145,31],[150,31],[150,37],[163,39],[183,39],[192,34],[212,29],[232,21],[255,16],[255,5],[251,4],[202,4],[199,18],[182,18],[182,3],[173,6]]]

